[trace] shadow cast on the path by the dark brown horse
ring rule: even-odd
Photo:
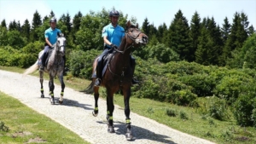
[[[100,121],[97,121],[97,123],[107,124],[107,123],[100,122]],[[114,122],[113,126],[115,129],[115,134],[125,136],[125,134],[126,134],[125,123]],[[131,141],[136,141],[139,139],[147,139],[147,140],[157,141],[157,142],[166,143],[166,144],[177,144],[173,141],[166,140],[166,138],[170,138],[170,136],[168,136],[168,135],[156,134],[156,133],[154,133],[154,131],[146,130],[146,129],[138,127],[136,125],[132,125],[131,131],[132,131],[132,135],[133,135],[133,138]]]

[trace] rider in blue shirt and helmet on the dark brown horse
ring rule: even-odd
[[[102,30],[102,37],[104,41],[104,50],[102,55],[99,56],[97,66],[96,66],[96,82],[95,86],[99,87],[102,82],[102,58],[104,55],[108,55],[113,53],[113,49],[118,49],[122,38],[125,37],[125,29],[122,26],[118,25],[119,20],[119,11],[112,10],[109,12],[109,19],[111,21],[108,26],[105,26]],[[135,70],[135,58],[131,56],[131,68],[132,68],[132,76]],[[132,84],[138,84],[139,82],[132,78]]]

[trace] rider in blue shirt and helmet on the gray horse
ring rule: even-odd
[[[57,42],[57,33],[61,33],[61,30],[56,28],[56,18],[52,17],[49,20],[49,29],[45,30],[44,37],[45,37],[45,44],[44,44],[44,54],[39,59],[39,65],[40,65],[40,71],[44,71],[45,66],[45,60],[47,59],[47,53],[49,49],[54,49],[54,44]],[[65,63],[66,63],[66,57],[63,56],[64,60],[64,69],[65,69]]]

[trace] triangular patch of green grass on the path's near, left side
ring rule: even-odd
[[[89,143],[61,124],[0,92],[0,143]]]

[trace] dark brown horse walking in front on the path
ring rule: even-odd
[[[125,123],[126,123],[126,139],[131,140],[131,118],[130,118],[130,96],[131,96],[131,48],[137,48],[148,43],[148,36],[138,29],[138,26],[131,25],[128,21],[126,24],[125,37],[119,46],[119,49],[114,49],[112,56],[108,56],[108,66],[105,74],[102,76],[102,87],[107,89],[107,119],[108,132],[114,133],[113,129],[113,94],[119,89],[122,90],[125,101]],[[93,62],[93,74],[96,71],[97,59]],[[85,93],[91,94],[94,92],[95,108],[92,112],[96,117],[98,114],[98,98],[99,87],[95,87],[96,78],[92,78],[91,84],[85,89]]]

